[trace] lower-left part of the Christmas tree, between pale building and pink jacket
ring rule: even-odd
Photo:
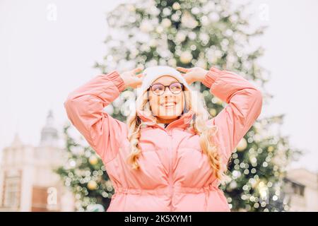
[[[68,161],[56,172],[75,195],[77,210],[90,210],[98,207],[98,204],[102,204],[105,209],[114,194],[112,182],[100,157],[83,137],[77,140],[73,138],[70,135],[71,129],[75,128],[69,124],[64,127]]]

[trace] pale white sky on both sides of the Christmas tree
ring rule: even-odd
[[[0,0],[0,150],[17,131],[37,145],[49,109],[62,127],[66,95],[100,73],[93,64],[105,55],[105,13],[121,2]],[[49,4],[57,20],[47,19]],[[255,42],[266,49],[261,65],[274,95],[261,117],[285,113],[281,132],[307,151],[293,166],[318,170],[318,1],[257,0],[252,8],[263,16],[253,23],[269,25]]]

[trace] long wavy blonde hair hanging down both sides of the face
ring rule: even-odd
[[[188,90],[187,88],[185,88],[183,93],[187,110],[192,110],[195,114],[195,119],[192,121],[191,126],[194,129],[194,132],[200,136],[200,146],[204,154],[208,156],[208,160],[213,169],[213,174],[221,180],[225,175],[227,167],[226,165],[222,165],[220,154],[218,153],[218,146],[213,142],[213,137],[217,133],[218,128],[217,126],[206,125],[206,121],[211,119],[211,115],[206,109],[204,98],[201,93],[197,92],[199,95],[194,95],[196,92]],[[131,114],[127,118],[129,127],[128,138],[131,146],[131,153],[129,153],[127,162],[131,165],[132,169],[139,169],[139,163],[137,162],[138,157],[141,154],[139,138],[141,136],[141,126],[145,124],[145,122],[141,121],[138,117],[137,110],[144,111],[149,115],[152,114],[148,102],[147,90],[139,95],[136,100],[136,110],[134,111],[134,114]]]

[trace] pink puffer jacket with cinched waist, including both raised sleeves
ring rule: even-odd
[[[204,85],[228,105],[207,124],[218,126],[214,138],[223,164],[259,117],[261,92],[245,78],[215,67]],[[103,109],[119,97],[124,81],[117,71],[101,74],[69,94],[64,102],[72,124],[100,155],[114,186],[107,211],[230,211],[220,182],[202,153],[199,136],[187,129],[194,113],[189,111],[165,129],[149,121],[141,128],[140,170],[130,169],[127,125]]]

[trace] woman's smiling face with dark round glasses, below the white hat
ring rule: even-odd
[[[172,91],[168,87],[164,89],[160,84],[170,85]],[[179,89],[179,81],[172,76],[161,76],[153,81],[152,87],[148,90],[148,98],[151,112],[160,123],[170,123],[182,114],[184,93]],[[160,92],[163,94],[158,95]]]

